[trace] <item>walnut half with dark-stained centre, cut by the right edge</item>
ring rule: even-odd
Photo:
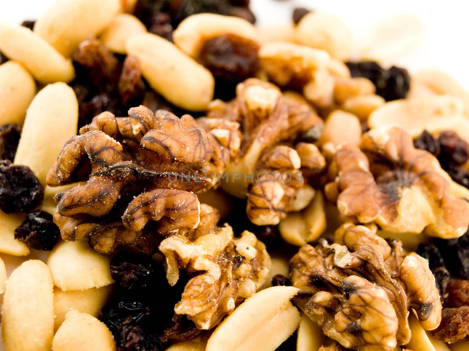
[[[430,153],[393,127],[363,135],[360,146],[343,145],[331,165],[337,177],[326,185],[342,215],[377,223],[391,233],[456,238],[469,225],[469,204],[450,193],[451,179]]]

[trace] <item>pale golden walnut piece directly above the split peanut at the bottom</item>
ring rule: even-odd
[[[169,284],[176,284],[180,270],[195,275],[174,312],[187,315],[199,329],[211,329],[233,312],[264,284],[270,269],[265,245],[248,231],[235,239],[227,225],[195,241],[175,234],[159,249],[166,256]]]

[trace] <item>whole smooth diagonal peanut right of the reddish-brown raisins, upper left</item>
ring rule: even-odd
[[[130,37],[126,48],[129,55],[140,60],[142,73],[151,87],[166,100],[187,110],[207,109],[215,80],[204,66],[154,34]]]

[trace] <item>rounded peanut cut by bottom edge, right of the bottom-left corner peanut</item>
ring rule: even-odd
[[[53,351],[114,351],[114,337],[91,314],[70,311],[52,342]]]

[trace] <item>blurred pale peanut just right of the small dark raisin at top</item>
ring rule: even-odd
[[[342,20],[334,15],[310,12],[296,26],[298,43],[323,49],[336,59],[350,55],[352,35]]]

